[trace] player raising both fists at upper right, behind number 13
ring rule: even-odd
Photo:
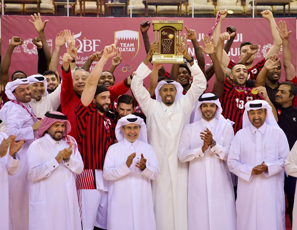
[[[214,45],[217,46],[217,42],[219,40],[219,35],[221,34],[221,23],[222,20],[226,17],[227,15],[227,10],[220,10],[217,12],[217,17],[218,14],[221,14],[221,17],[219,19],[219,22],[214,29]],[[263,18],[266,18],[269,22],[269,26],[271,29],[271,35],[273,39],[273,45],[272,47],[267,51],[265,57],[259,61],[256,65],[253,64],[254,58],[255,58],[255,53],[254,52],[249,52],[249,46],[252,45],[253,43],[251,42],[243,42],[240,45],[239,49],[239,58],[241,59],[239,63],[243,63],[246,65],[249,77],[253,80],[257,78],[257,75],[261,71],[261,69],[264,66],[265,60],[267,60],[271,55],[277,54],[279,52],[279,49],[282,45],[282,39],[279,37],[277,28],[276,28],[276,23],[273,18],[272,12],[269,10],[264,10],[261,12]],[[224,67],[232,68],[236,63],[230,60],[228,54],[223,51],[223,58],[222,58],[222,64]]]

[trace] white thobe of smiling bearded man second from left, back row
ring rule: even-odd
[[[61,85],[62,84],[60,84],[52,93],[42,97],[39,101],[32,99],[29,102],[34,114],[38,118],[44,118],[46,112],[57,111],[61,104]]]

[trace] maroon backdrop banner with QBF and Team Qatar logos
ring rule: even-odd
[[[23,44],[15,48],[12,54],[9,74],[16,70],[24,71],[27,76],[37,72],[37,48],[32,43],[32,38],[37,37],[38,33],[34,26],[29,22],[30,16],[1,16],[1,45],[2,58],[10,44],[13,36],[21,37]],[[101,51],[106,45],[114,42],[115,37],[119,38],[118,47],[122,50],[122,63],[114,72],[116,82],[123,80],[135,71],[138,65],[146,56],[143,45],[143,38],[140,32],[140,23],[144,20],[152,21],[153,19],[165,20],[184,20],[184,26],[189,29],[195,29],[197,39],[200,45],[201,37],[208,34],[208,31],[214,25],[215,18],[96,18],[96,17],[55,17],[42,16],[42,21],[49,20],[45,27],[45,36],[53,53],[55,49],[56,34],[64,29],[70,29],[74,32],[76,46],[80,45],[78,51],[77,64],[82,66],[88,57],[95,51]],[[279,20],[285,20],[288,30],[293,31],[290,34],[290,47],[292,52],[292,63],[296,69],[296,18],[276,18],[278,25]],[[234,39],[229,52],[230,59],[239,61],[239,46],[241,42],[250,41],[253,44],[260,45],[258,52],[255,54],[255,61],[260,61],[266,55],[269,47],[273,44],[269,23],[264,18],[225,18],[222,22],[222,32],[226,31],[227,26],[235,26],[237,35]],[[183,29],[182,33],[186,33]],[[148,31],[150,42],[154,41],[153,28]],[[194,48],[190,40],[188,41],[189,54],[195,57]],[[62,47],[59,59],[58,71],[61,74],[62,56],[66,52],[66,46]],[[279,51],[279,58],[282,60],[282,48]],[[205,55],[206,68],[211,64],[211,59]],[[281,61],[282,62],[282,61]],[[91,69],[96,63],[94,62]],[[109,69],[111,60],[106,65]],[[123,68],[126,66],[126,68]],[[170,71],[170,64],[165,64],[165,69]],[[151,64],[149,68],[152,69]],[[126,69],[129,69],[127,71]],[[126,72],[125,72],[126,71]],[[281,81],[285,79],[285,72],[282,68]],[[209,82],[208,90],[212,89],[214,79]],[[145,79],[146,87],[149,86],[149,77]]]

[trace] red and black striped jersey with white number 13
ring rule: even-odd
[[[233,125],[234,133],[242,128],[242,115],[244,112],[244,105],[248,101],[262,100],[259,94],[251,94],[248,96],[244,92],[238,92],[233,88],[233,84],[225,79],[224,93],[219,98],[222,105],[222,115],[235,124]]]

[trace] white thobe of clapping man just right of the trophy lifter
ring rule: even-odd
[[[187,125],[179,143],[178,158],[189,161],[188,230],[236,230],[236,209],[227,156],[234,130],[226,123],[216,137],[218,119],[203,118]],[[203,153],[200,132],[208,128],[217,142]]]

